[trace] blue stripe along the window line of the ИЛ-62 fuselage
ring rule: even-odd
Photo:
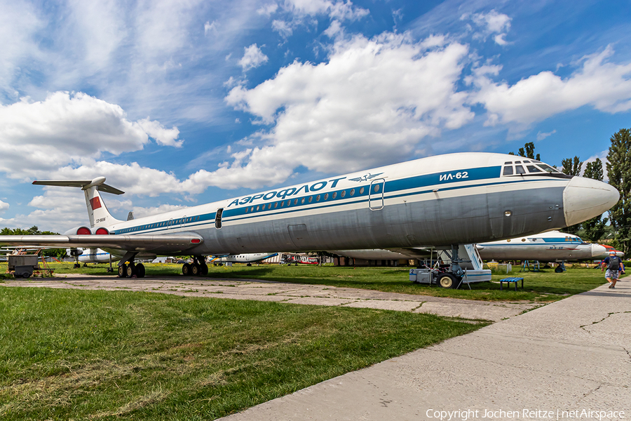
[[[403,190],[419,189],[422,187],[437,187],[440,185],[445,185],[445,184],[454,183],[454,182],[468,182],[468,181],[475,181],[475,180],[489,180],[491,178],[500,178],[500,171],[501,171],[501,166],[491,166],[491,167],[483,167],[483,168],[468,168],[468,169],[464,169],[460,171],[449,171],[446,173],[416,175],[414,177],[403,178],[400,180],[389,180],[389,181],[386,181],[384,185],[384,189],[383,189],[384,199],[393,199],[397,197],[426,194],[428,192],[432,192],[433,189],[426,189],[426,190],[422,190],[418,192],[392,194],[394,192],[401,192]],[[466,174],[466,178],[465,178],[465,175],[463,174]],[[452,175],[452,178],[447,178],[446,175]],[[441,180],[441,177],[443,178],[442,180]],[[545,175],[543,175],[543,177],[545,177]],[[486,183],[482,182],[482,183],[476,183],[473,185],[456,185],[452,187],[444,187],[440,189],[440,191],[446,192],[446,191],[455,190],[455,189],[468,189],[468,188],[473,188],[473,187],[484,187],[484,186],[489,186],[489,185],[508,185],[508,184],[515,184],[518,182],[533,182],[533,181],[538,181],[538,182],[550,181],[550,178],[545,178],[543,180],[541,178],[538,178],[536,180],[532,180],[532,179],[522,180],[521,178],[510,180],[507,178],[507,179],[504,179],[501,181],[498,180],[495,182],[486,182]],[[362,187],[364,187],[364,192],[360,193],[360,189]],[[350,196],[351,189],[355,190],[355,194],[353,196]],[[372,187],[372,189],[374,189],[374,186]],[[320,193],[320,192],[311,193],[306,196],[292,197],[291,199],[285,198],[280,201],[278,200],[267,201],[265,203],[259,203],[258,205],[253,205],[250,203],[247,206],[240,206],[239,208],[232,208],[232,209],[224,208],[223,214],[222,214],[222,220],[224,220],[224,222],[232,222],[232,221],[238,221],[238,220],[258,218],[261,216],[283,215],[287,213],[292,213],[297,210],[303,210],[307,206],[310,206],[308,208],[309,210],[318,210],[318,209],[323,209],[323,208],[331,208],[334,206],[351,205],[351,204],[356,204],[356,203],[366,203],[369,201],[368,196],[370,194],[377,195],[378,197],[376,197],[376,200],[381,201],[382,192],[374,192],[374,191],[371,192],[370,190],[371,190],[370,185],[357,185],[356,187],[347,187],[346,189],[337,189],[337,190],[332,190],[332,191],[323,192],[323,193]],[[346,192],[346,196],[341,197],[341,192]],[[325,194],[328,194],[328,199],[326,199],[326,201],[324,200]],[[334,194],[336,194],[335,198],[333,198]],[[386,196],[386,194],[388,195]],[[320,195],[321,199],[320,201],[315,202],[315,197],[318,195]],[[312,197],[313,201],[309,202],[308,201],[309,197]],[[302,199],[304,199],[304,203],[302,203]],[[281,202],[285,203],[285,206],[283,206],[283,208],[280,207]],[[290,204],[287,205],[287,202],[289,202]],[[274,204],[276,203],[278,203],[278,205],[274,207]],[[318,205],[318,203],[320,204]],[[268,209],[267,207],[270,204],[271,204],[271,208]],[[259,210],[257,210],[257,207],[259,208]],[[136,227],[117,229],[114,231],[114,234],[128,234],[128,233],[141,234],[143,232],[148,232],[148,231],[160,232],[161,234],[163,234],[164,232],[168,232],[171,229],[194,228],[199,225],[207,225],[209,222],[210,224],[214,225],[215,216],[216,216],[215,212],[205,213],[201,215],[193,215],[187,218],[199,217],[200,219],[196,221],[185,222],[184,224],[174,222],[172,223],[172,225],[170,225],[170,227],[167,227],[166,225],[164,225],[162,227],[149,228],[149,226],[168,223],[168,220],[163,220],[159,222],[153,222],[151,224],[138,225]],[[179,221],[179,220],[182,220],[182,218],[175,219],[175,221]],[[144,228],[144,227],[147,227],[147,228]]]

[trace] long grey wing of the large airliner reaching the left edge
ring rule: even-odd
[[[98,247],[150,253],[176,253],[203,243],[195,233],[138,235],[3,235],[0,246]]]

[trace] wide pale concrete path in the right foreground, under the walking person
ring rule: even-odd
[[[600,286],[224,418],[441,419],[631,419],[631,282]]]

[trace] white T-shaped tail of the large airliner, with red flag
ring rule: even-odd
[[[95,225],[111,225],[115,222],[121,222],[114,218],[100,195],[99,192],[107,192],[112,194],[123,194],[121,190],[105,184],[104,177],[97,177],[94,180],[46,180],[34,181],[34,185],[59,186],[59,187],[81,187],[86,195],[86,206],[88,207],[88,217],[90,218],[90,227]]]

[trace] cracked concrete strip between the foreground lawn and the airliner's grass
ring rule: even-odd
[[[116,276],[62,274],[54,278],[15,279],[0,286],[30,286],[90,290],[136,290],[196,297],[231,298],[292,302],[307,305],[332,305],[431,313],[463,319],[500,321],[533,309],[524,302],[482,302],[455,298],[382,293],[356,288],[305,285],[272,281],[200,279],[187,276],[151,276],[151,279],[125,279]],[[419,288],[428,288],[419,286]]]

